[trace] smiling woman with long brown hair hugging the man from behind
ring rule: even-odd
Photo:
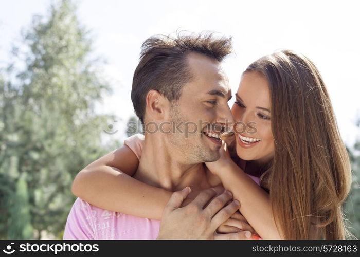
[[[289,50],[265,56],[243,72],[236,99],[234,119],[253,122],[255,130],[243,132],[235,126],[232,158],[223,144],[221,158],[206,165],[240,201],[242,215],[262,238],[344,239],[341,204],[350,189],[350,163],[314,64]],[[121,167],[133,175],[136,155],[126,148],[117,154],[128,163],[133,160]],[[81,171],[73,193],[104,209],[160,219],[171,193],[124,174],[106,173],[105,167],[115,164],[109,158]],[[260,177],[268,194],[246,174]],[[115,177],[117,186],[111,189]],[[128,209],[134,205],[141,207]],[[143,213],[147,205],[155,211]]]

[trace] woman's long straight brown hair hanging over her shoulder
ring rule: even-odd
[[[250,64],[270,86],[275,154],[261,177],[286,239],[343,239],[341,204],[351,183],[349,157],[328,91],[306,57],[284,50]]]

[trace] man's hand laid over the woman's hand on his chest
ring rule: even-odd
[[[238,200],[231,201],[225,206],[232,198],[230,192],[214,197],[217,192],[207,189],[190,204],[181,207],[189,193],[190,188],[186,187],[172,194],[164,209],[157,239],[231,239],[226,237],[240,237],[240,235],[245,237],[248,231],[230,234],[215,232],[240,207]]]

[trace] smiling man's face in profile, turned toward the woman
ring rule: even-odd
[[[179,100],[170,105],[170,122],[180,129],[168,134],[169,141],[181,150],[187,163],[216,161],[222,144],[216,137],[232,122],[227,104],[231,89],[216,60],[191,53],[188,65],[193,79],[184,85]]]

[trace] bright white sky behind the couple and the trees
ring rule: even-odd
[[[20,30],[33,14],[45,14],[49,0],[0,0],[0,65]],[[114,130],[124,130],[133,115],[132,76],[139,49],[149,36],[176,29],[213,30],[233,37],[236,56],[225,62],[232,91],[248,64],[277,49],[308,56],[327,84],[341,135],[348,145],[359,136],[360,15],[357,1],[116,1],[82,0],[80,21],[92,30],[96,54],[104,57],[104,72],[113,86],[99,112],[118,117]],[[232,105],[232,102],[230,102]],[[123,123],[124,123],[123,122]],[[107,124],[104,124],[104,130]],[[109,130],[109,129],[107,129]],[[108,139],[122,139],[122,133]]]

